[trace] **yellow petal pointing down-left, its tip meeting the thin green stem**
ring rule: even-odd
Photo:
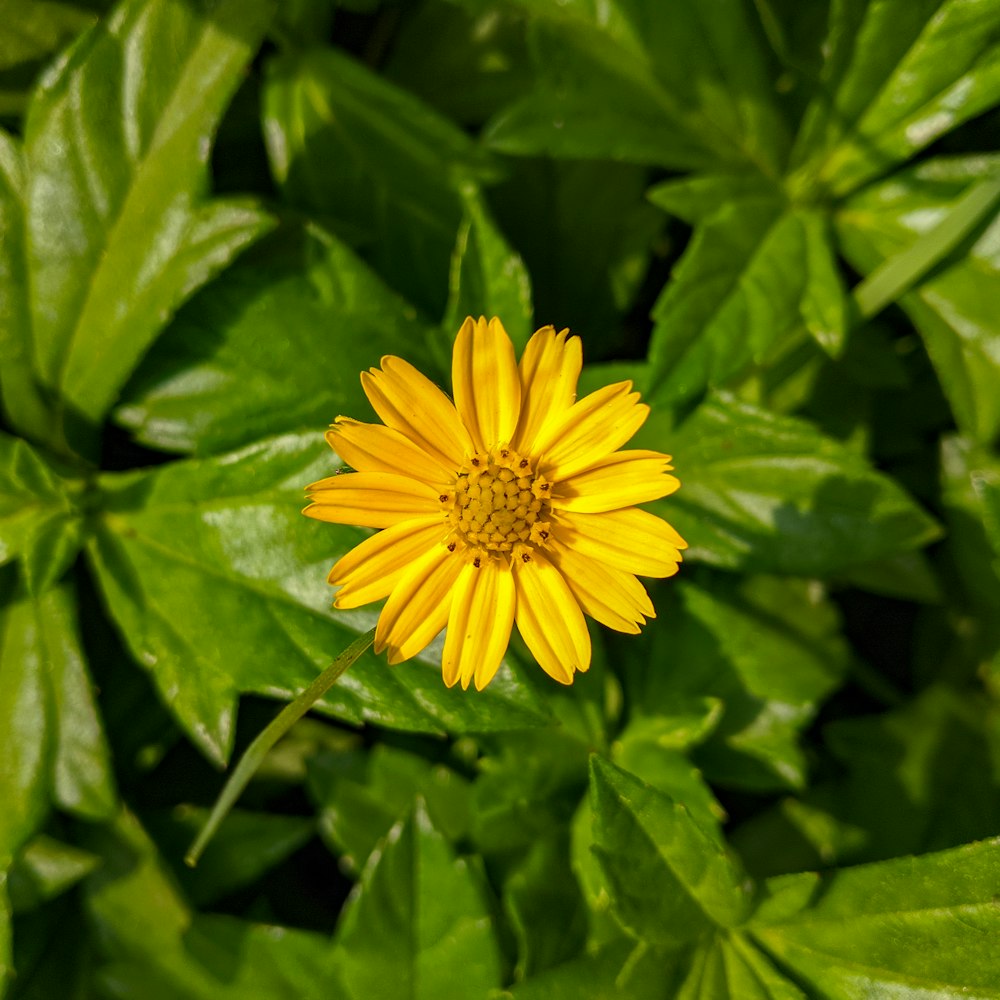
[[[416,656],[448,622],[451,592],[461,558],[435,545],[402,575],[385,602],[375,628],[375,652],[389,651],[390,663]]]

